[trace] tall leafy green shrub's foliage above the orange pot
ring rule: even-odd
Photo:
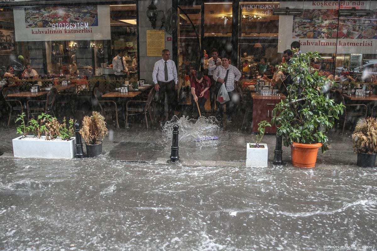
[[[281,70],[290,74],[291,84],[287,86],[287,97],[276,104],[271,122],[277,126],[277,135],[282,136],[285,146],[293,142],[322,143],[325,152],[328,149],[325,133],[333,128],[345,106],[326,95],[335,83],[310,66],[310,61],[316,58],[318,52],[301,53],[282,64]]]

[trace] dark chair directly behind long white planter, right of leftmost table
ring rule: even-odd
[[[58,94],[58,90],[54,87],[49,90],[47,93],[47,97],[45,100],[28,100],[26,102],[26,108],[28,110],[28,120],[30,119],[30,114],[39,114],[39,113],[51,113],[55,117],[54,113],[54,103],[56,100],[56,96]]]

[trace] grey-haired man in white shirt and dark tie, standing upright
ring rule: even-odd
[[[169,120],[174,115],[176,105],[176,90],[178,88],[178,74],[175,62],[170,60],[170,51],[167,49],[162,50],[162,59],[155,63],[153,67],[153,83],[155,83],[157,108],[159,119],[157,122],[163,122],[165,116],[165,93],[167,95],[167,105]]]

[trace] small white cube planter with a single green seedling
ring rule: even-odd
[[[262,138],[267,126],[271,126],[266,120],[258,123],[258,134],[255,143],[247,143],[246,145],[246,166],[247,167],[267,167],[268,147],[262,144]]]

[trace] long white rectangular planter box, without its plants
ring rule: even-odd
[[[74,158],[76,155],[76,138],[71,140],[46,140],[45,136],[40,139],[34,136],[22,136],[14,138],[13,155],[20,158]],[[44,140],[42,140],[44,138]]]

